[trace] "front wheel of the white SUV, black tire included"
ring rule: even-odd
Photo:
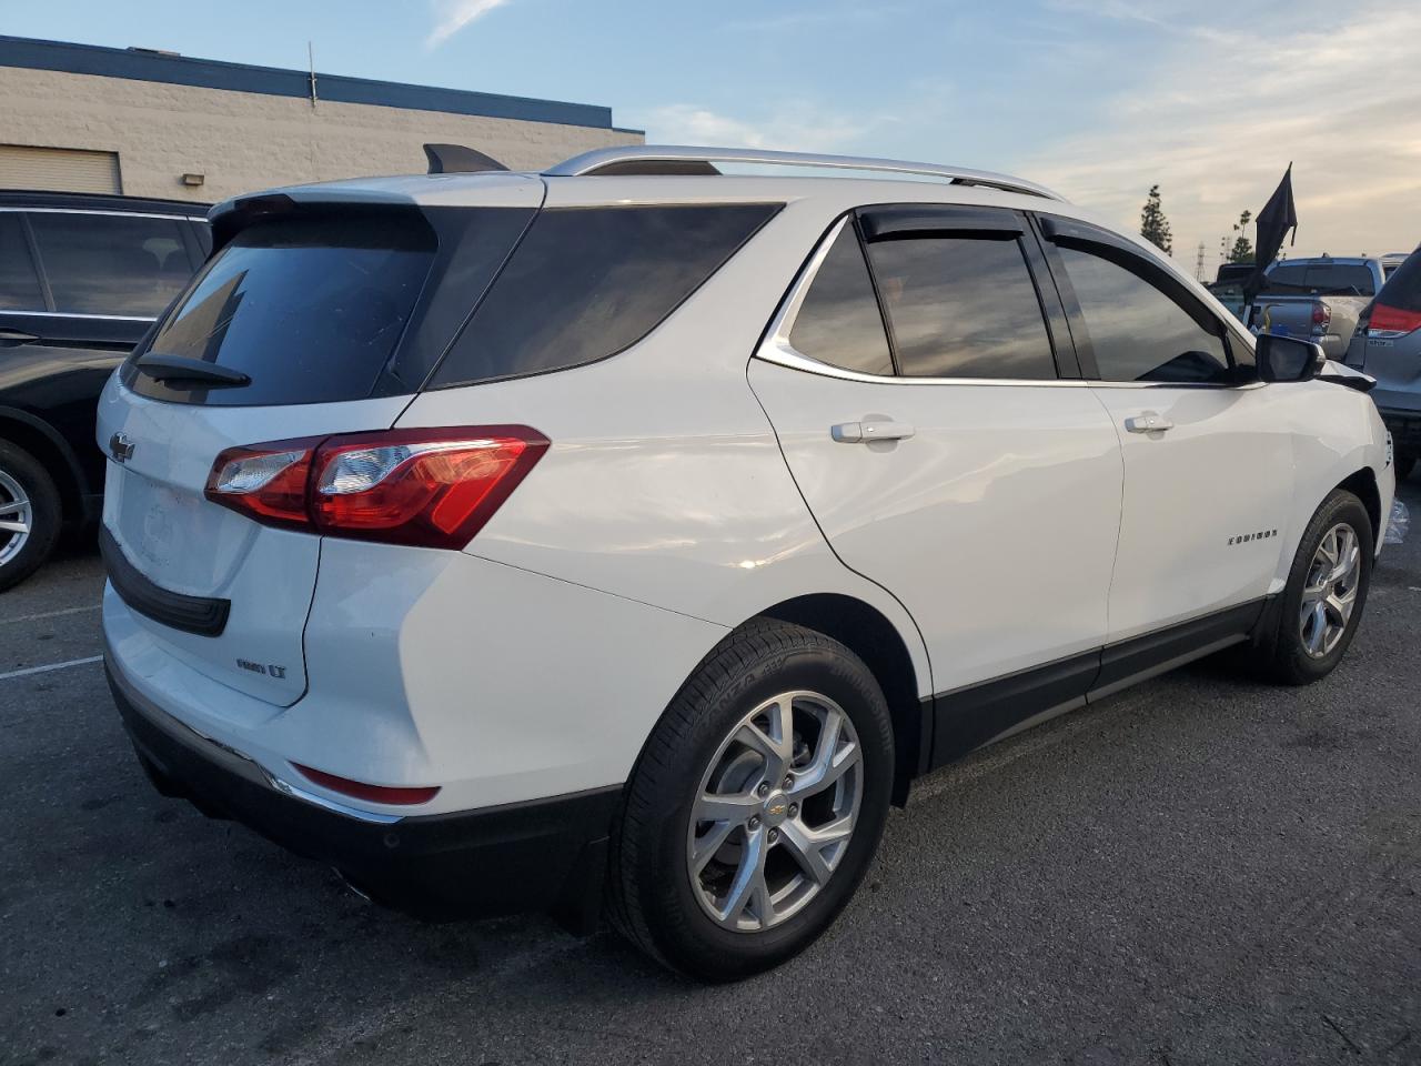
[[[1350,557],[1353,547],[1346,546],[1346,537],[1341,537],[1343,543],[1329,540],[1339,530],[1349,529],[1356,540],[1356,569],[1351,577],[1341,580],[1337,578],[1341,569],[1324,563],[1329,551],[1340,551],[1343,563]],[[1323,500],[1297,546],[1270,631],[1252,650],[1252,665],[1263,679],[1279,685],[1310,685],[1336,669],[1367,604],[1374,536],[1371,516],[1354,495],[1337,489]],[[1329,605],[1329,600],[1314,600],[1313,590],[1324,584],[1337,603],[1350,605],[1344,617]],[[1310,604],[1320,604],[1309,608],[1309,617],[1303,615],[1304,593]]]

